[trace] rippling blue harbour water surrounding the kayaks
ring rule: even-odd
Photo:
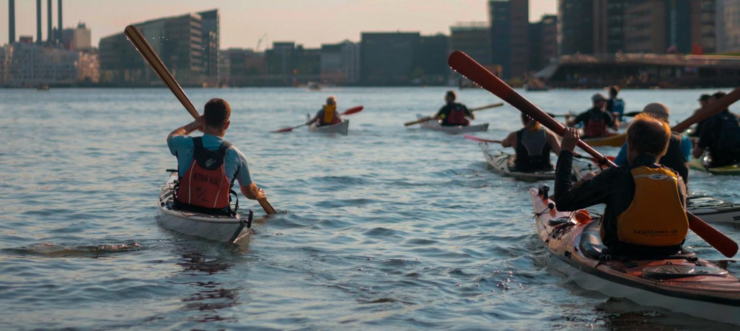
[[[406,128],[443,88],[189,89],[231,103],[226,139],[280,214],[238,245],[161,228],[155,199],[192,120],[166,89],[0,89],[0,318],[7,329],[727,328],[582,290],[548,264],[528,183],[487,168],[476,143]],[[549,112],[593,90],[522,92]],[[672,121],[708,90],[625,91]],[[349,135],[302,123],[326,95],[363,105]],[[468,106],[499,100],[459,92]],[[518,129],[509,106],[477,113],[480,137]],[[616,149],[602,149],[607,154]],[[691,172],[691,190],[740,201],[739,177]],[[251,202],[251,201],[250,201]],[[717,225],[740,241],[740,228]],[[689,245],[724,259],[693,234]],[[729,264],[739,273],[740,267]]]

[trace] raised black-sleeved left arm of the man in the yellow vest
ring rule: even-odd
[[[554,200],[559,211],[576,211],[606,201],[610,188],[612,169],[600,172],[579,187],[573,187],[573,149],[578,143],[578,131],[566,129],[560,144],[560,157],[555,168]]]

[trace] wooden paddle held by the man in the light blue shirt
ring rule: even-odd
[[[201,117],[201,115],[198,114],[198,110],[195,109],[195,106],[193,106],[192,102],[190,102],[190,99],[187,98],[187,95],[185,95],[185,91],[183,91],[182,87],[180,87],[178,81],[175,81],[175,77],[173,77],[172,73],[170,73],[167,67],[164,66],[164,63],[159,58],[154,49],[152,49],[152,45],[149,45],[147,39],[144,38],[144,35],[141,34],[141,31],[139,31],[138,28],[134,27],[133,25],[129,25],[126,27],[126,29],[124,29],[124,34],[127,38],[129,38],[129,41],[131,41],[131,44],[133,44],[136,50],[138,50],[139,54],[144,57],[144,60],[147,61],[147,64],[149,64],[154,72],[157,73],[159,78],[162,78],[162,81],[164,81],[164,84],[169,87],[169,90],[172,91],[173,94],[175,94],[175,98],[178,98],[178,100],[180,100],[180,103],[183,104],[192,118],[198,120],[198,118]],[[268,215],[276,213],[275,208],[272,208],[272,205],[270,205],[270,202],[268,202],[267,199],[257,201],[260,202],[262,209],[264,209],[265,213],[267,213]]]

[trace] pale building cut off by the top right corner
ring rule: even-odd
[[[717,52],[740,52],[740,1],[716,2]]]

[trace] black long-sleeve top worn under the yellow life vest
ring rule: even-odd
[[[640,166],[649,168],[661,168],[656,164],[656,157],[643,154],[635,157],[630,165],[622,165],[605,169],[591,180],[583,182],[577,188],[573,188],[571,182],[571,171],[573,170],[573,152],[560,151],[555,168],[555,194],[554,200],[559,211],[577,211],[599,203],[606,204],[602,218],[602,241],[607,247],[619,244],[617,236],[617,216],[630,207],[635,197],[635,182],[631,170]],[[673,171],[675,173],[675,171]],[[679,196],[682,205],[686,205],[686,185],[679,174]]]

